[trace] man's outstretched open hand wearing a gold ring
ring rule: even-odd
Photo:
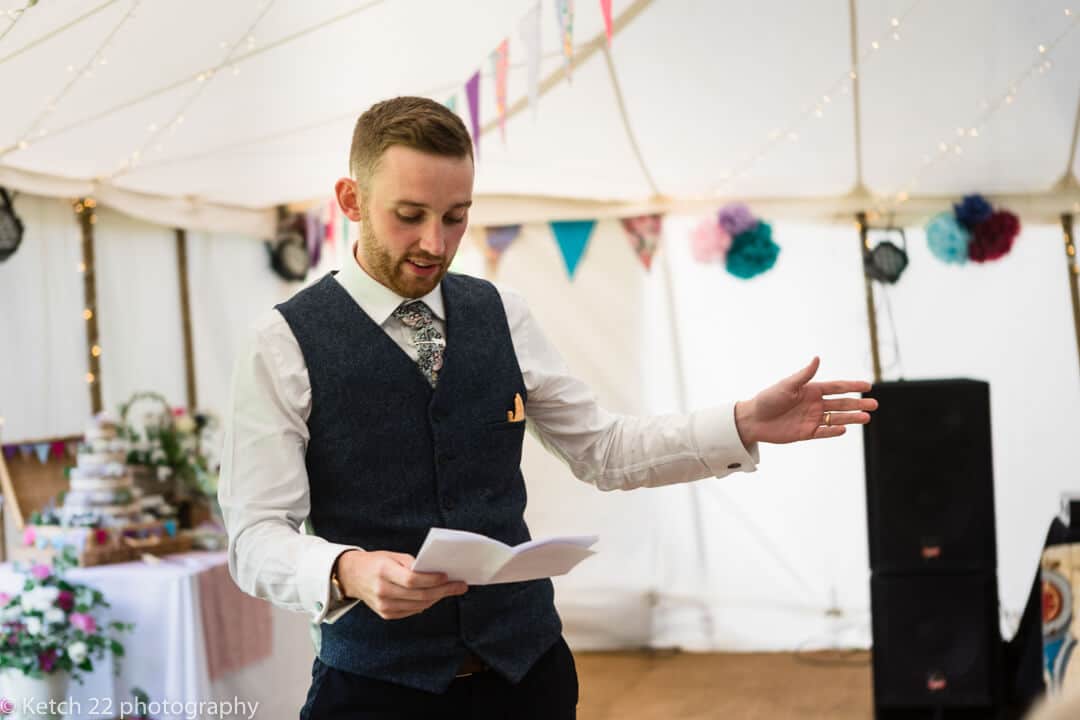
[[[877,400],[860,397],[825,397],[863,393],[870,383],[861,380],[810,382],[821,361],[814,357],[789,378],[766,388],[753,399],[735,404],[735,426],[743,445],[753,443],[796,443],[838,437],[845,425],[864,425]],[[826,418],[826,412],[828,417]]]

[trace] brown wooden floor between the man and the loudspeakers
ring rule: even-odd
[[[577,652],[579,720],[869,720],[869,653]]]

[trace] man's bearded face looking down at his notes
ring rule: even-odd
[[[379,160],[362,216],[357,260],[375,280],[419,298],[443,279],[461,244],[472,204],[473,163],[392,146]]]

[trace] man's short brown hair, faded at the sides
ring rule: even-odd
[[[366,187],[387,149],[403,145],[421,152],[473,159],[465,124],[444,105],[427,97],[394,97],[376,103],[356,121],[349,172]]]

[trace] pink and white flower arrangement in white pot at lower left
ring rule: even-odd
[[[82,682],[95,661],[124,654],[116,636],[133,625],[102,621],[109,607],[102,593],[65,579],[75,562],[66,552],[52,566],[18,568],[22,590],[0,593],[0,674],[5,693],[16,698],[58,701],[68,678]]]

